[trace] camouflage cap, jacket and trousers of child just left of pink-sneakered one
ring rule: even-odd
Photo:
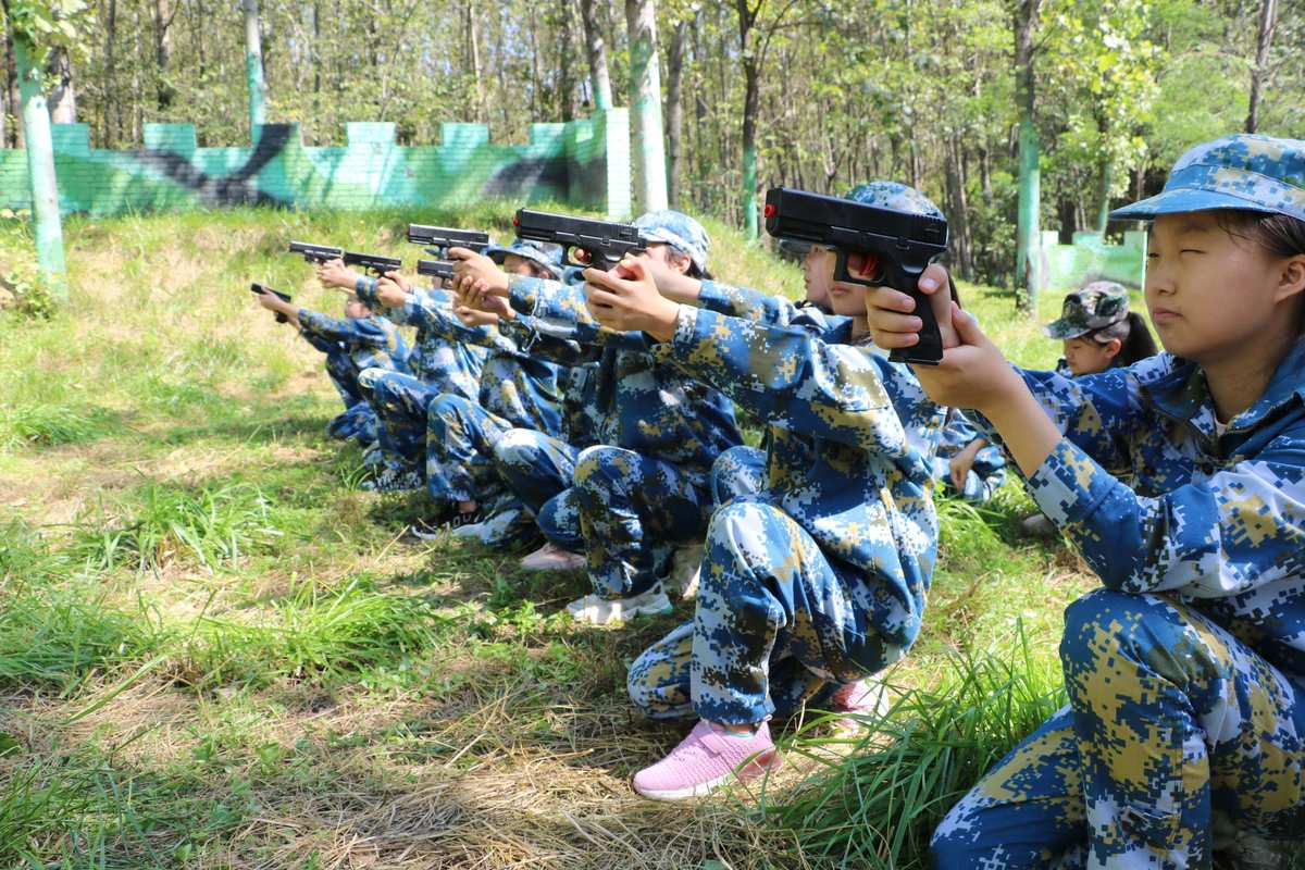
[[[660,230],[690,247],[694,239],[681,233],[701,231],[679,213],[636,223],[646,235]],[[702,233],[703,266],[705,240]],[[529,330],[522,347],[566,365],[595,364],[586,415],[596,424],[594,442],[611,450],[594,447],[589,462],[577,458],[574,492],[564,505],[579,514],[595,592],[615,599],[646,591],[660,579],[669,544],[703,532],[711,463],[743,441],[733,404],[650,352],[642,334],[602,329],[579,286],[513,277],[509,290],[513,309],[526,316],[514,327]],[[666,498],[643,498],[639,487]]]

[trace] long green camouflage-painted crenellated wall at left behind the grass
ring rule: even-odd
[[[191,124],[146,124],[144,147],[93,149],[85,124],[55,124],[64,214],[273,205],[290,209],[453,206],[556,200],[630,218],[624,108],[532,124],[525,145],[483,124],[444,124],[440,145],[399,146],[394,124],[347,124],[348,145],[304,147],[296,124],[256,128],[253,147],[196,147]],[[26,155],[0,149],[0,207],[30,209]]]

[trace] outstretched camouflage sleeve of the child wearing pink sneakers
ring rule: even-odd
[[[881,380],[889,363],[869,350],[680,305],[675,337],[654,352],[770,425],[887,455],[908,450]]]

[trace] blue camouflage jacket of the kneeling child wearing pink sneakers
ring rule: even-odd
[[[937,557],[930,462],[944,411],[906,365],[852,343],[852,321],[705,282],[655,353],[727,393],[767,428],[756,497],[868,579],[861,603],[885,639],[920,629]]]

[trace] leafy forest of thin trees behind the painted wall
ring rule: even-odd
[[[64,18],[55,121],[89,124],[97,147],[138,147],[147,121],[249,140],[251,3],[40,5]],[[393,121],[401,143],[450,120],[523,141],[531,121],[633,102],[629,34],[650,13],[672,205],[744,224],[774,184],[898,179],[947,213],[954,269],[993,286],[1017,283],[1022,121],[1039,222],[1062,241],[1159,189],[1195,142],[1305,137],[1302,0],[262,0],[268,120],[305,145],[342,143],[352,120]],[[8,30],[3,85],[0,145],[18,146]]]

